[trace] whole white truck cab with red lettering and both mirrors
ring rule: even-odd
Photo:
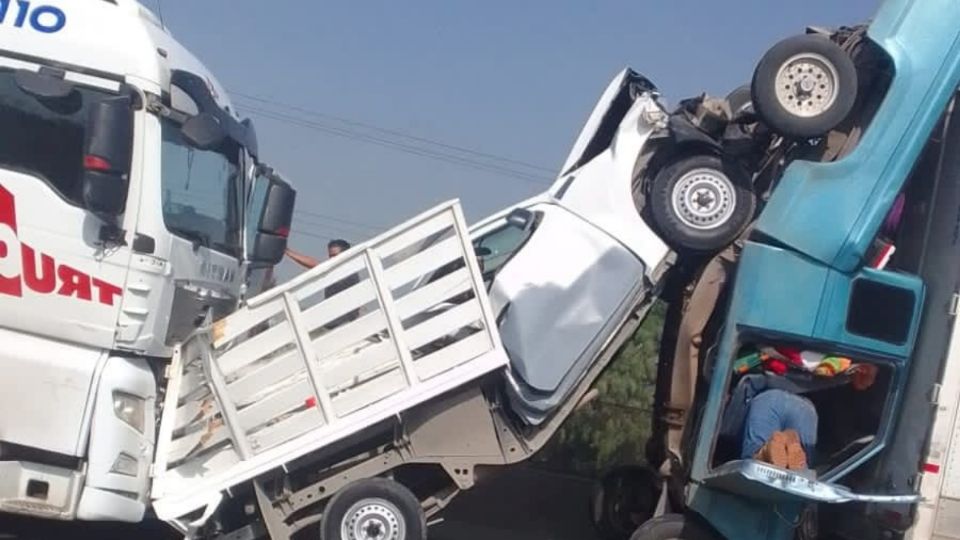
[[[166,359],[279,261],[293,199],[139,3],[0,0],[0,511],[142,519]]]

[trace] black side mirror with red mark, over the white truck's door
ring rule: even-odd
[[[129,96],[90,107],[84,139],[83,202],[107,218],[123,213],[133,159],[133,106]]]

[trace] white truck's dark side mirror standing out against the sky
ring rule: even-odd
[[[250,262],[272,266],[283,260],[296,199],[297,192],[290,184],[276,177],[269,179],[257,231],[250,246]]]

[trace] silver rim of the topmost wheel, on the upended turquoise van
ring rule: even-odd
[[[840,75],[823,55],[802,53],[791,57],[777,72],[777,101],[790,114],[813,118],[837,101]]]

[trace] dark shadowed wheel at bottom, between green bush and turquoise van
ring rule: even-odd
[[[605,474],[590,498],[590,520],[604,540],[628,540],[653,517],[660,497],[659,475],[645,467],[620,467]]]

